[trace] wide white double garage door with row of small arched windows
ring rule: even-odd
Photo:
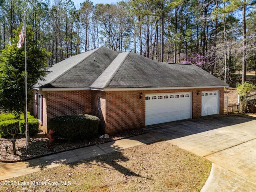
[[[146,94],[146,125],[192,118],[192,94]]]

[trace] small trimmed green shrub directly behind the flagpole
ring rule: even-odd
[[[29,136],[34,136],[39,132],[39,122],[38,119],[28,118],[28,128],[29,128]],[[26,133],[26,124],[24,118],[20,120],[20,133]]]

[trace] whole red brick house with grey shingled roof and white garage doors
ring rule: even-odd
[[[223,114],[228,84],[192,64],[150,60],[100,47],[48,69],[34,87],[33,114],[47,130],[60,115],[92,114],[114,134],[175,120]]]

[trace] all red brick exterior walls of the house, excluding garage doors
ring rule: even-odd
[[[198,90],[200,94],[197,95]],[[223,114],[224,88],[144,90],[144,91],[38,91],[43,95],[43,126],[60,115],[92,114],[100,118],[100,133],[114,134],[123,130],[145,126],[145,95],[154,93],[192,92],[192,118],[201,117],[202,91],[220,91],[220,114]],[[143,96],[140,99],[140,92]],[[34,92],[35,94],[35,92]],[[101,109],[97,101],[100,97]],[[47,110],[46,110],[47,109]],[[35,115],[35,104],[34,104]]]

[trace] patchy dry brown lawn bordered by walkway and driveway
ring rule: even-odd
[[[198,192],[210,169],[208,160],[161,141],[5,180],[16,185],[0,191]]]

